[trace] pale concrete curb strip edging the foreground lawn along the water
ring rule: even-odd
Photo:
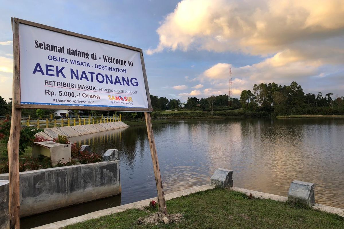
[[[215,188],[215,186],[213,186],[211,184],[206,184],[206,185],[193,187],[193,188],[185,189],[182,191],[166,194],[165,199],[166,199],[166,201],[168,201],[168,200],[173,199],[173,198],[190,195],[190,194],[196,193],[196,192],[211,190],[213,188]],[[247,195],[249,195],[251,193],[256,198],[272,199],[272,200],[281,201],[281,202],[287,201],[287,197],[285,197],[285,196],[278,196],[278,195],[264,193],[264,192],[257,192],[257,191],[248,190],[245,188],[238,188],[238,187],[232,187],[229,189],[237,191],[237,192],[242,192],[242,193],[245,193]],[[98,218],[101,216],[111,215],[111,214],[125,211],[128,209],[141,208],[141,207],[149,206],[149,202],[153,201],[153,200],[158,201],[158,197],[154,197],[154,198],[150,198],[150,199],[144,199],[143,201],[138,201],[138,202],[134,202],[134,203],[130,203],[130,204],[120,205],[120,206],[112,207],[112,208],[107,208],[104,210],[94,211],[92,213],[88,213],[88,214],[85,214],[82,216],[77,216],[77,217],[74,217],[71,219],[61,220],[61,221],[54,222],[51,224],[42,225],[39,227],[35,227],[33,229],[61,228],[61,227],[65,227],[67,225],[76,224],[78,222],[83,222],[83,221]],[[315,204],[312,208],[317,209],[317,210],[321,210],[321,211],[325,211],[328,213],[337,214],[339,216],[344,217],[344,209],[341,209],[341,208],[326,206],[326,205],[322,205],[322,204]]]

